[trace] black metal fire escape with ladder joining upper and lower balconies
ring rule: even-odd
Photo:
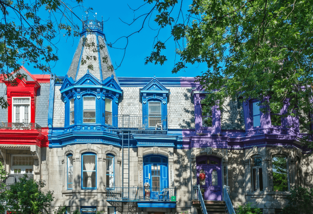
[[[130,186],[130,140],[136,134],[167,135],[167,118],[120,115],[106,118],[106,120],[117,124],[117,126],[108,127],[107,131],[119,135],[122,146],[122,184],[113,188],[107,187],[107,201],[122,214],[136,214],[137,201],[143,199],[143,192],[142,187]]]

